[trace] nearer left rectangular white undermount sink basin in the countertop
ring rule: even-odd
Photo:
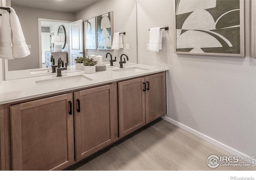
[[[91,78],[88,78],[86,76],[76,75],[76,76],[52,78],[47,80],[39,80],[39,81],[36,81],[36,85],[40,89],[70,88],[74,85],[80,85],[91,80],[92,80]]]

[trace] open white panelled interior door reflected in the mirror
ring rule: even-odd
[[[83,20],[70,22],[70,65],[74,65],[74,59],[78,56],[84,56],[83,47]]]

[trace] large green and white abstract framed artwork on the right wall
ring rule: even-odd
[[[244,0],[175,0],[175,53],[244,56]]]

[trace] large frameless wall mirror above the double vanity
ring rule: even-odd
[[[40,33],[42,32],[50,32],[52,35],[66,32],[66,43],[63,44],[62,51],[67,52],[67,60],[70,62],[68,24],[76,20],[84,22],[88,18],[99,16],[110,10],[114,12],[114,32],[126,32],[126,35],[123,36],[124,48],[120,50],[90,50],[84,46],[84,56],[94,54],[105,57],[106,53],[110,52],[112,56],[116,56],[116,59],[120,60],[121,54],[127,54],[130,63],[137,63],[136,0],[47,0],[40,2],[38,0],[9,0],[9,2],[20,19],[26,43],[31,46],[31,54],[25,58],[4,61],[6,80],[24,78],[17,74],[22,74],[20,72],[25,70],[46,68],[43,66],[44,58],[42,58],[42,47],[40,48],[42,46]],[[39,22],[45,25],[40,26]],[[50,22],[53,25],[47,25]],[[49,28],[49,26],[54,27]],[[129,44],[129,49],[126,49],[126,44]],[[109,61],[109,57],[104,60]],[[33,76],[43,76],[43,74],[33,74]]]

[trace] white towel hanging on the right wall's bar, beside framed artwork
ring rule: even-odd
[[[162,49],[162,31],[160,27],[151,28],[149,32],[149,44],[147,44],[147,48],[149,51],[156,51]]]

